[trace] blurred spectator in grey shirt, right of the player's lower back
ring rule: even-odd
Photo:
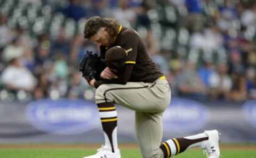
[[[203,81],[196,72],[196,64],[187,61],[184,68],[177,76],[179,95],[197,101],[205,101],[206,89]]]

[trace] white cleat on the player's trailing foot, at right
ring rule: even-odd
[[[219,158],[219,132],[218,130],[206,130],[204,133],[208,136],[208,140],[203,144],[202,149],[207,158]]]

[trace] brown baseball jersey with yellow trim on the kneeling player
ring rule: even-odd
[[[120,26],[118,35],[113,46],[121,46],[128,52],[124,71],[118,73],[117,79],[98,80],[95,87],[101,84],[126,84],[126,82],[154,82],[163,73],[158,66],[151,60],[146,51],[145,44],[138,32],[133,29]],[[101,57],[105,58],[105,53],[110,47],[101,46]]]

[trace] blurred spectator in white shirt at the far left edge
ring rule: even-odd
[[[11,59],[3,70],[1,81],[5,88],[14,92],[18,92],[18,90],[33,92],[37,82],[33,74],[22,65],[21,60],[17,57]]]

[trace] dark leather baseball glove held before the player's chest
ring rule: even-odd
[[[95,78],[97,73],[98,55],[93,54],[91,51],[86,51],[85,55],[79,63],[79,71],[82,72],[83,77],[89,82]]]

